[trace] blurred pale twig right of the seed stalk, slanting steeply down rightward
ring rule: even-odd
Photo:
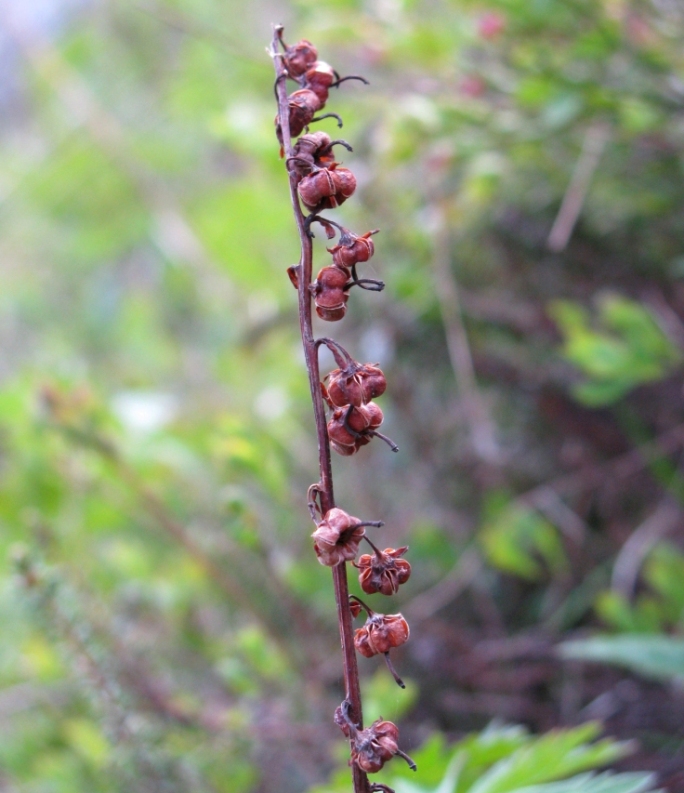
[[[439,300],[451,366],[468,422],[470,441],[475,454],[481,460],[498,465],[501,461],[500,449],[494,423],[477,386],[473,356],[463,324],[458,283],[451,270],[451,235],[443,208],[439,210],[434,240],[432,269],[435,292]]]

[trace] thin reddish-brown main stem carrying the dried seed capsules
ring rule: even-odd
[[[282,26],[276,25],[273,31],[273,42],[271,45],[271,55],[276,70],[276,92],[278,96],[278,116],[280,128],[283,136],[283,148],[285,150],[286,162],[292,157],[292,139],[290,136],[290,119],[287,101],[286,81],[281,79],[285,73],[282,59],[278,54],[278,42],[282,34]],[[311,325],[311,293],[309,284],[312,279],[313,270],[313,249],[311,238],[307,232],[305,218],[299,204],[297,195],[297,184],[300,177],[296,173],[289,174],[290,180],[290,199],[294,212],[299,239],[301,242],[301,256],[298,265],[298,295],[299,295],[299,325],[302,334],[302,344],[304,347],[304,357],[306,368],[309,373],[309,388],[311,390],[311,400],[313,402],[314,420],[316,422],[316,435],[318,437],[318,463],[320,468],[320,480],[318,493],[321,510],[325,514],[335,506],[335,496],[333,492],[332,464],[330,460],[330,443],[328,441],[328,431],[326,427],[325,407],[320,387],[320,372],[318,368],[318,354],[316,341],[314,339]],[[337,619],[339,623],[340,639],[342,642],[343,674],[345,699],[350,705],[350,716],[359,729],[363,728],[363,714],[361,709],[361,686],[359,683],[359,669],[356,661],[356,650],[354,648],[354,630],[352,627],[352,616],[349,610],[349,585],[347,582],[347,565],[338,564],[332,568],[333,584],[335,588],[335,600],[337,602]],[[370,793],[368,777],[354,763],[352,767],[354,782],[354,793]]]

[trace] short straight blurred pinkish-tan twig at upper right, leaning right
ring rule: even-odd
[[[555,253],[564,250],[570,241],[609,137],[610,127],[605,123],[596,123],[587,130],[572,179],[546,241],[547,247]]]

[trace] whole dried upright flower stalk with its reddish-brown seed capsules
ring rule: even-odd
[[[367,773],[379,771],[395,755],[404,757],[414,769],[415,765],[398,748],[398,730],[391,722],[378,719],[371,727],[363,729],[356,652],[367,656],[382,653],[395,680],[403,687],[389,659],[389,649],[403,644],[408,639],[409,629],[401,615],[376,614],[362,604],[368,613],[367,624],[354,632],[352,619],[358,615],[361,602],[358,598],[350,599],[347,563],[354,563],[366,527],[378,527],[382,523],[352,517],[335,505],[330,450],[332,447],[339,454],[350,456],[375,437],[384,440],[392,451],[398,451],[398,447],[377,431],[383,415],[372,399],[381,396],[386,386],[380,368],[354,361],[332,339],[316,340],[312,329],[312,302],[322,320],[335,322],[347,311],[352,287],[370,291],[384,288],[381,281],[359,278],[356,271],[357,264],[368,261],[373,255],[371,236],[376,231],[357,235],[319,214],[338,207],[356,189],[354,174],[335,162],[333,153],[336,145],[348,151],[352,150],[351,146],[343,140],[332,140],[325,132],[309,132],[309,125],[321,118],[336,118],[338,126],[342,126],[342,120],[335,113],[320,115],[331,88],[345,80],[366,81],[355,75],[340,78],[329,64],[318,60],[318,52],[309,41],[302,40],[288,47],[280,25],[274,27],[270,54],[276,72],[276,135],[289,174],[290,200],[301,243],[300,260],[288,269],[288,276],[298,292],[300,330],[318,439],[319,481],[308,493],[309,510],[316,524],[312,536],[318,561],[332,569],[342,644],[345,696],[336,711],[335,721],[350,741],[349,764],[354,793],[391,793],[386,785],[371,784]],[[287,93],[288,79],[298,84],[298,90],[290,95]],[[293,145],[292,138],[300,135]],[[302,205],[309,211],[306,216]],[[311,244],[313,223],[323,228],[328,239],[339,234],[337,244],[328,248],[332,263],[323,267],[315,279]],[[318,348],[322,344],[330,349],[338,364],[338,369],[326,376],[327,386],[321,380],[318,364]],[[326,406],[330,417],[326,417]],[[370,540],[368,542],[376,553],[372,561],[371,557],[363,557],[361,576],[366,580],[365,591],[394,594],[409,576],[408,562],[398,559],[407,549],[382,552]],[[373,583],[368,583],[369,576]]]

